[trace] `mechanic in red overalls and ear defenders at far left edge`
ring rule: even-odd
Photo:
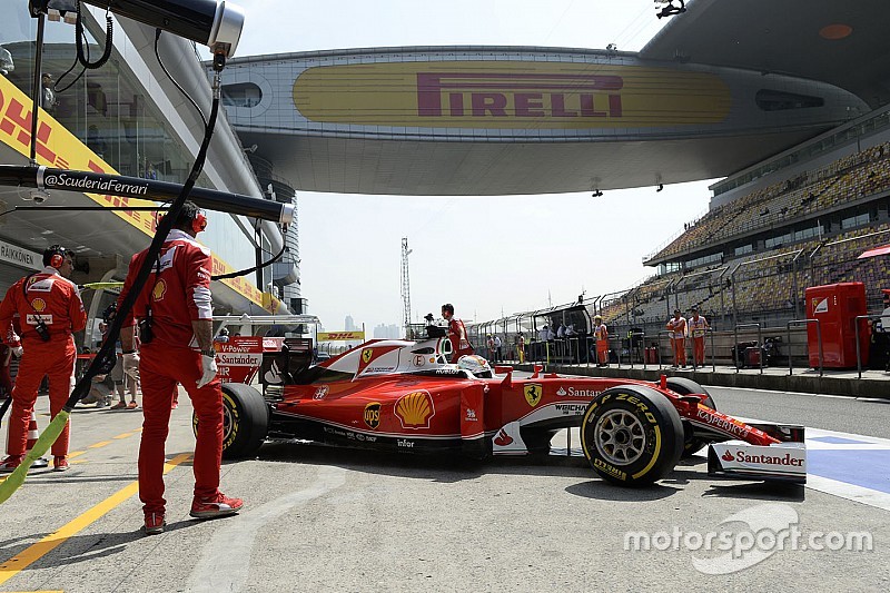
[[[80,293],[68,279],[73,268],[71,253],[53,245],[43,251],[43,266],[42,270],[13,284],[0,303],[0,335],[8,335],[12,317],[18,315],[23,348],[12,389],[8,457],[0,463],[0,473],[21,465],[28,444],[28,423],[44,375],[49,376],[49,411],[53,418],[68,402],[77,359],[71,334],[87,326]],[[52,467],[57,472],[68,470],[68,434],[66,424],[52,444]]]

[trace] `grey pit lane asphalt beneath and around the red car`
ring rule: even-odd
[[[890,437],[887,404],[711,393],[730,414]],[[180,402],[169,459],[194,446],[188,398]],[[41,397],[41,429],[46,408]],[[126,496],[141,413],[85,407],[72,422],[71,449],[82,452],[72,468],[33,472],[0,505],[0,592],[890,590],[890,512],[809,487],[712,480],[702,458],[657,486],[626,490],[596,478],[577,458],[478,464],[274,443],[258,459],[224,466],[224,491],[246,500],[236,517],[190,520],[188,462],[171,467],[169,525],[145,537],[138,497]],[[745,530],[775,532],[788,526],[789,513],[804,535],[868,532],[873,551],[773,547],[750,567],[713,575],[705,573],[759,556],[721,561],[724,553],[683,541],[726,530],[736,540]],[[724,523],[730,517],[736,521]],[[665,551],[629,551],[627,532],[681,535]]]

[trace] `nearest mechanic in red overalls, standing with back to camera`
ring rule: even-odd
[[[142,439],[139,446],[139,498],[146,534],[164,531],[165,443],[171,405],[181,384],[198,419],[195,444],[195,497],[190,515],[211,518],[231,515],[244,505],[219,492],[222,456],[222,391],[217,377],[212,342],[210,270],[212,256],[195,237],[207,218],[191,202],[167,236],[152,274],[120,333],[123,370],[142,382]],[[136,254],[118,298],[118,309],[130,290],[146,251]],[[141,360],[134,345],[134,318],[139,322]],[[150,325],[149,325],[150,324]]]

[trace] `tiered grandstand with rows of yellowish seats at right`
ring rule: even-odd
[[[698,306],[718,332],[759,324],[784,332],[805,316],[809,286],[866,285],[869,310],[890,288],[888,256],[859,259],[890,243],[890,109],[850,121],[711,187],[711,208],[653,254],[650,278],[623,290],[511,317],[526,342],[562,312],[601,314],[613,336],[659,336],[674,308]],[[573,314],[581,339],[590,333]],[[506,334],[502,320],[479,324]],[[471,327],[474,334],[477,327]],[[626,350],[626,339],[622,347]],[[566,350],[566,348],[563,348]],[[726,352],[729,357],[729,344]],[[583,356],[584,348],[575,348]],[[566,350],[567,352],[567,350]]]

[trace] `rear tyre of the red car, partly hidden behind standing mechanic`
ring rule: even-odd
[[[192,414],[198,434],[198,418]],[[243,383],[222,384],[222,458],[243,459],[256,455],[266,441],[269,406],[263,395]]]

